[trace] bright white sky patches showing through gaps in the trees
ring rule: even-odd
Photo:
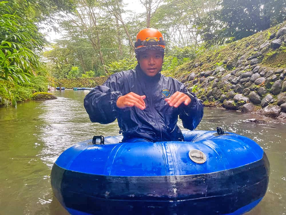
[[[140,4],[139,0],[133,0],[133,1],[124,0],[124,2],[127,4],[126,7],[124,8],[126,10],[136,11],[138,13],[146,12],[145,7],[142,4]],[[56,33],[54,31],[47,32],[47,29],[41,30],[41,32],[43,34],[46,34],[45,38],[49,42],[54,42],[55,39],[60,39],[62,37],[61,34]]]

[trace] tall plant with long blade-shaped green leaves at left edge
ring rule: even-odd
[[[13,96],[10,87],[30,83],[40,68],[38,52],[45,44],[37,26],[14,9],[17,1],[0,1],[0,105],[16,105],[21,96]],[[19,92],[20,93],[20,92]],[[24,93],[25,94],[25,93]]]

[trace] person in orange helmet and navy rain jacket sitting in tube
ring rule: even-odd
[[[194,130],[203,116],[202,103],[181,82],[161,75],[165,41],[157,29],[141,30],[135,47],[135,70],[111,75],[86,95],[90,120],[107,124],[117,118],[122,142],[183,141],[178,116],[184,128]]]

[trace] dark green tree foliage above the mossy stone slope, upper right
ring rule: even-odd
[[[207,46],[240,40],[286,20],[284,0],[222,0],[214,3],[215,9],[196,19],[199,34]],[[270,32],[266,33],[265,38],[270,36]]]

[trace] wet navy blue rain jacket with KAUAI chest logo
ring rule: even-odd
[[[170,107],[165,98],[176,91],[190,96],[190,104]],[[137,107],[120,109],[116,106],[118,97],[130,92],[146,95],[144,110]],[[119,133],[124,137],[122,141],[129,138],[144,138],[152,142],[183,141],[184,137],[177,126],[178,116],[184,128],[189,130],[194,130],[203,116],[202,103],[181,82],[160,72],[149,77],[139,65],[135,70],[115,73],[103,85],[96,86],[86,95],[84,107],[92,122],[107,124],[117,118]]]

